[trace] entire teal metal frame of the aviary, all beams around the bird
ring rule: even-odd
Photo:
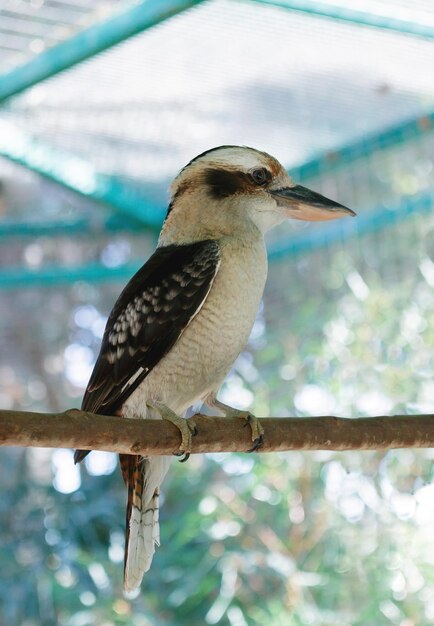
[[[22,66],[0,75],[0,102],[203,1],[142,0],[140,4],[81,31]],[[250,1],[401,34],[434,38],[434,29],[424,24],[339,8],[327,2]],[[292,167],[291,174],[296,180],[305,181],[324,172],[347,166],[357,159],[366,157],[374,150],[390,148],[414,139],[433,128],[434,111],[336,150],[327,151],[299,166]],[[3,132],[5,129],[6,132]],[[65,222],[55,220],[34,224],[3,222],[0,223],[0,237],[57,236],[77,233],[88,235],[101,232],[101,230],[104,232],[119,230],[140,232],[141,227],[157,231],[161,226],[164,217],[163,208],[156,206],[155,202],[147,198],[144,193],[142,195],[136,190],[129,189],[115,177],[97,172],[85,159],[53,149],[10,125],[3,125],[0,128],[0,155],[86,198],[109,205],[122,214],[122,219],[119,219],[119,216],[111,216],[102,221],[77,218]],[[309,229],[308,232],[300,233],[291,239],[286,238],[284,241],[274,242],[270,250],[270,260],[278,261],[287,255],[309,252],[343,239],[347,240],[355,235],[360,236],[377,231],[408,218],[416,212],[427,213],[432,210],[433,201],[433,194],[425,193],[394,207],[394,210],[385,210],[381,207],[360,215],[354,221],[343,220],[336,224],[322,226],[320,229]],[[0,289],[54,286],[72,283],[76,280],[92,282],[124,280],[131,276],[138,266],[139,264],[130,263],[113,269],[93,264],[79,268],[45,267],[37,272],[25,268],[12,268],[0,272]]]

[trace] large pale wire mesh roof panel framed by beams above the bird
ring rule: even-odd
[[[429,67],[423,39],[215,0],[45,81],[2,116],[98,171],[159,186],[161,199],[213,145],[254,145],[290,167],[420,116],[433,106]]]

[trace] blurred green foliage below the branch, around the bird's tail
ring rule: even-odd
[[[77,492],[64,495],[35,477],[39,461],[31,455],[8,450],[1,462],[8,476],[4,623],[386,626],[432,619],[430,452],[174,462],[162,546],[135,598],[122,593],[118,473],[84,476]]]

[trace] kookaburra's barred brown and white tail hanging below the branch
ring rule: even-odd
[[[122,474],[128,484],[124,587],[136,589],[149,570],[155,546],[160,545],[159,495],[171,457],[121,455]]]

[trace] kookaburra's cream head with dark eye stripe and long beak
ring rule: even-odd
[[[354,211],[301,185],[266,152],[220,146],[192,159],[171,186],[162,241],[266,232],[287,218],[332,220]]]

